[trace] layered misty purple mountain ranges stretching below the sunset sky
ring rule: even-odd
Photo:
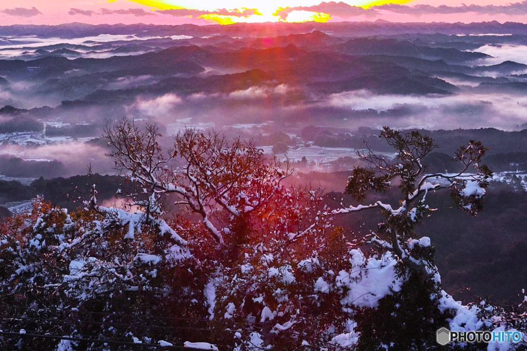
[[[232,109],[258,106],[255,120],[262,122],[277,116],[260,116],[262,111],[282,107],[284,118],[294,121],[437,111],[472,116],[479,108],[494,113],[492,104],[482,107],[477,98],[452,108],[399,104],[394,98],[375,109],[339,95],[353,92],[414,97],[527,92],[527,62],[489,55],[527,44],[527,26],[520,23],[73,23],[3,26],[0,35],[0,105],[26,108],[29,115],[32,107],[53,106],[50,115],[60,118],[70,118],[65,111],[74,109],[77,123],[87,111],[94,121],[111,119],[167,94],[177,96],[170,106],[179,99],[186,118],[209,116],[195,111],[216,107],[235,118]],[[495,50],[479,52],[483,46]],[[209,100],[200,104],[196,96]]]

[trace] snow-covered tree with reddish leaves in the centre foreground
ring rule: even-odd
[[[207,276],[214,339],[240,349],[296,349],[324,346],[345,330],[346,313],[335,308],[338,295],[323,276],[349,266],[350,255],[343,231],[323,215],[329,209],[321,194],[282,185],[287,164],[282,169],[250,142],[188,129],[164,156],[156,133],[122,121],[106,136],[116,164],[148,191],[151,208],[167,197],[178,206],[173,226],[193,248],[195,272]],[[168,166],[176,157],[184,165]],[[324,304],[335,314],[324,316]]]

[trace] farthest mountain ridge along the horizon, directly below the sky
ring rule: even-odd
[[[289,34],[303,34],[310,31],[330,31],[334,36],[373,36],[397,35],[408,33],[419,34],[527,34],[527,25],[518,22],[503,24],[492,22],[480,23],[392,23],[382,19],[375,22],[337,22],[337,23],[239,23],[222,25],[90,25],[70,23],[57,26],[48,25],[13,25],[0,26],[0,36],[30,36],[42,38],[77,38],[91,37],[100,34],[136,35],[140,37],[189,35],[202,37],[207,35],[227,35],[230,37],[276,37]]]

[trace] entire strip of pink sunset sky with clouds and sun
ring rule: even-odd
[[[372,2],[373,1],[373,2]],[[237,22],[522,22],[527,0],[0,0],[0,24]]]

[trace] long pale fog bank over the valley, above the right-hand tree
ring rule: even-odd
[[[377,95],[359,90],[328,95],[321,106],[335,108],[333,111],[375,109],[386,113],[364,117],[362,121],[357,119],[354,123],[358,125],[427,129],[475,128],[477,125],[477,128],[511,129],[515,124],[525,123],[527,97],[472,90],[448,96]],[[393,115],[388,110],[405,113]]]

